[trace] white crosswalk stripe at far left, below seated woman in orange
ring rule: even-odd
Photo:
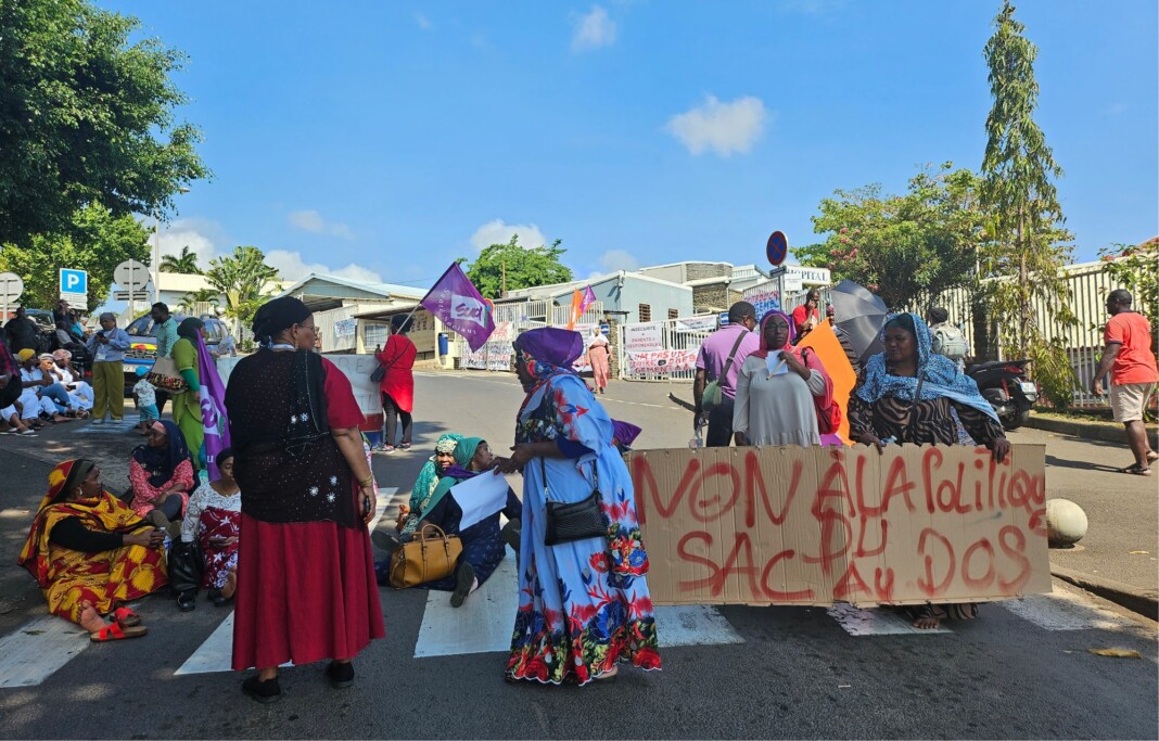
[[[90,644],[80,625],[56,615],[38,617],[0,638],[0,688],[35,687]]]

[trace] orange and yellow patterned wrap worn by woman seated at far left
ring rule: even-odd
[[[52,528],[67,518],[79,518],[85,527],[107,533],[151,527],[107,491],[93,499],[57,501],[74,464],[75,461],[66,461],[49,474],[49,492],[41,501],[16,563],[36,579],[49,611],[75,623],[85,602],[101,614],[110,612],[118,602],[151,594],[169,579],[160,550],[126,545],[82,553],[50,541]]]

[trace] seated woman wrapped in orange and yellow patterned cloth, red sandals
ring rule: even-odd
[[[65,461],[49,474],[17,563],[36,578],[49,611],[90,640],[136,638],[146,629],[124,602],[168,582],[163,541],[165,533],[104,491],[96,464]]]

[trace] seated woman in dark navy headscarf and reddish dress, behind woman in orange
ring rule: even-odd
[[[133,484],[133,512],[159,528],[169,528],[176,538],[194,490],[194,461],[177,425],[153,423],[148,440],[133,450],[129,480]]]

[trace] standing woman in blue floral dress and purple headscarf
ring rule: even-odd
[[[511,457],[500,461],[503,472],[524,474],[519,609],[505,676],[585,684],[614,676],[621,661],[659,669],[632,478],[612,447],[611,418],[571,370],[583,338],[537,329],[515,349],[527,396]],[[546,545],[545,484],[553,501],[575,502],[597,483],[607,537]]]

